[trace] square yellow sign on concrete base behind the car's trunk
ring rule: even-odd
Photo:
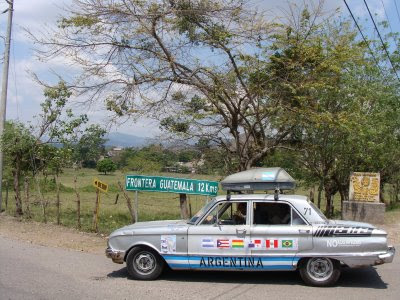
[[[350,175],[349,200],[379,202],[380,174],[353,172]]]

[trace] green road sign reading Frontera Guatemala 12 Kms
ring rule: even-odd
[[[126,175],[125,189],[127,191],[216,196],[218,182],[161,176]]]

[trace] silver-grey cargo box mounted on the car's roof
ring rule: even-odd
[[[221,186],[228,197],[231,192],[274,190],[277,200],[282,190],[295,189],[296,181],[282,168],[255,168],[229,175]]]

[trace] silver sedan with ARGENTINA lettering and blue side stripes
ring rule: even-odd
[[[282,169],[275,172],[282,175]],[[284,187],[288,177],[279,181],[275,175],[264,184]],[[252,182],[244,180],[235,189],[235,176],[222,182],[230,192],[263,183],[253,176]],[[189,221],[123,227],[109,236],[106,255],[115,263],[126,262],[135,279],[156,279],[165,265],[173,270],[299,269],[304,282],[313,286],[333,285],[343,266],[392,262],[395,249],[387,245],[385,231],[367,223],[328,220],[307,197],[280,192],[228,193],[207,203]]]

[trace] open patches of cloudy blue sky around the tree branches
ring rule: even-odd
[[[311,1],[311,0],[310,0]],[[394,1],[400,9],[399,0],[367,0],[375,21],[386,20],[386,12],[391,27],[394,31],[400,29],[400,17],[397,15]],[[302,5],[303,0],[290,1]],[[305,1],[306,3],[309,1]],[[314,1],[315,2],[315,1]],[[363,0],[347,0],[354,15],[360,19],[360,24],[365,28],[364,33],[369,37],[376,37],[373,25]],[[32,41],[27,37],[23,28],[29,28],[33,33],[40,31],[43,26],[54,25],[62,15],[62,7],[71,3],[71,0],[14,0],[14,20],[12,33],[12,48],[10,58],[10,73],[7,100],[7,119],[16,119],[23,122],[33,121],[34,116],[40,111],[40,103],[43,99],[42,87],[37,84],[30,72],[38,73],[47,80],[56,80],[52,70],[63,74],[73,74],[73,68],[66,68],[65,62],[60,58],[51,63],[38,61],[33,54]],[[282,10],[287,8],[287,1],[279,0],[253,0],[253,5],[270,11],[271,15],[279,16]],[[0,10],[7,7],[4,0],[0,0]],[[326,0],[325,9],[334,10],[340,8],[344,16],[348,11],[341,0]],[[0,15],[0,35],[4,37],[7,24],[7,14]],[[385,30],[380,28],[381,33]],[[0,40],[0,52],[4,51],[4,43]],[[2,65],[1,65],[2,66]],[[1,74],[0,74],[0,79]],[[77,108],[79,111],[79,108]],[[79,114],[80,112],[77,112]],[[90,109],[87,111],[92,122],[106,122],[107,112],[103,109]],[[158,124],[147,119],[136,123],[127,122],[119,127],[112,127],[111,131],[134,134],[143,137],[153,137],[159,134]]]

